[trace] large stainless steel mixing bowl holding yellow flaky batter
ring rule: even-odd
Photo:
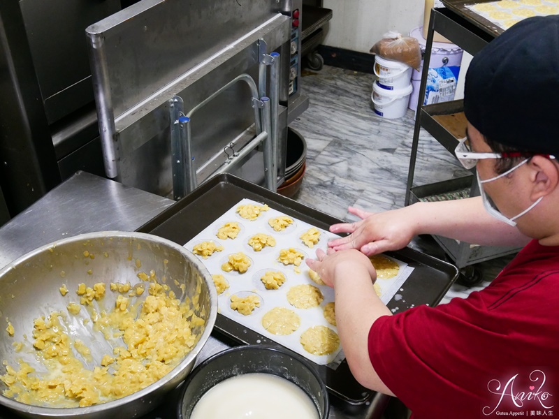
[[[85,251],[94,254],[94,258],[84,256]],[[87,286],[105,283],[106,295],[99,302],[94,301],[93,307],[99,304],[99,309],[110,309],[118,295],[109,291],[111,282],[137,284],[141,282],[136,277],[138,272],[149,274],[151,270],[160,283],[166,278],[165,284],[181,301],[198,295],[199,306],[195,313],[205,319],[205,325],[193,328],[200,336],[198,342],[171,372],[132,395],[94,406],[66,409],[31,406],[2,395],[0,403],[29,418],[136,418],[152,410],[166,392],[189,374],[196,355],[210,337],[217,316],[217,294],[208,270],[187,249],[161,237],[119,231],[88,233],[47,244],[4,267],[0,271],[0,325],[3,324],[0,327],[0,362],[6,360],[17,367],[17,360],[22,358],[37,371],[44,371],[29,350],[35,318],[46,317],[52,311],[67,312],[68,302],[79,302],[75,290],[80,283]],[[59,291],[62,284],[66,284],[69,291],[66,297]],[[184,284],[184,292],[181,284]],[[147,292],[143,297],[145,295]],[[15,329],[13,337],[6,331],[6,319]],[[104,354],[112,354],[112,345],[101,332],[92,329],[92,322],[84,325],[79,316],[67,316],[66,323],[71,338],[81,339],[90,348],[93,362],[88,362],[88,367],[99,365]],[[12,344],[18,341],[27,341],[28,349],[15,352]],[[0,374],[4,373],[0,366]],[[0,381],[0,390],[4,389]]]

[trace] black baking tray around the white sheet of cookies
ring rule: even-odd
[[[188,196],[138,228],[138,231],[159,235],[182,246],[242,198],[266,203],[280,212],[324,230],[328,230],[331,224],[342,222],[324,212],[319,212],[244,179],[224,173],[199,186]],[[405,248],[386,252],[386,254],[414,267],[414,271],[398,295],[388,304],[389,309],[395,313],[420,304],[431,306],[438,304],[458,277],[458,270],[455,266],[413,249]],[[221,314],[217,315],[212,335],[229,345],[269,344],[278,346],[274,341]],[[325,365],[314,364],[314,367],[326,383],[328,390],[344,402],[358,405],[370,399],[372,390],[364,388],[355,380],[349,371],[346,360],[343,360],[335,370]]]

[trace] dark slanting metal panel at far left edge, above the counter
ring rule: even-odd
[[[0,109],[0,187],[15,216],[60,182],[17,0],[0,1]]]

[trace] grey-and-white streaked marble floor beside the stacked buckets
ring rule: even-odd
[[[301,86],[310,105],[290,124],[307,142],[307,168],[294,199],[347,221],[356,219],[347,212],[349,205],[377,212],[402,207],[405,200],[414,112],[407,110],[400,119],[377,116],[370,106],[373,77],[331,66],[305,71]],[[415,185],[468,174],[422,129]],[[433,251],[444,257],[440,248]],[[477,264],[484,281],[471,288],[455,284],[442,302],[484,288],[510,258]]]

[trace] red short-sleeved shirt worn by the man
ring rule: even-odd
[[[368,346],[415,419],[559,416],[559,247],[533,240],[483,291],[378,318]]]

